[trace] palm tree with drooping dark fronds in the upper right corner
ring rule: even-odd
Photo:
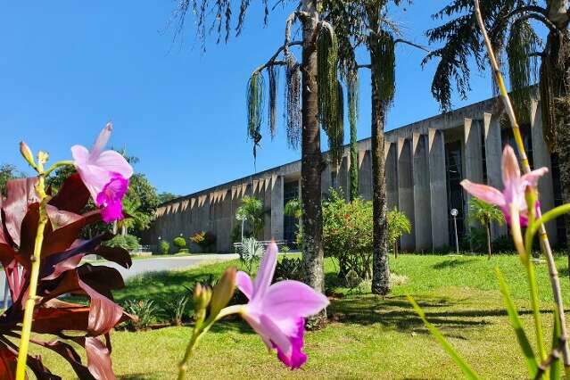
[[[482,0],[481,11],[490,31],[493,49],[506,53],[508,76],[517,118],[528,120],[530,85],[539,69],[541,115],[544,138],[549,149],[558,153],[563,202],[570,202],[570,6],[568,0]],[[447,19],[441,26],[427,30],[430,43],[442,47],[427,54],[424,62],[438,59],[432,93],[450,110],[453,83],[462,98],[470,89],[470,66],[484,70],[483,37],[475,23],[472,0],[450,0],[436,19]],[[533,21],[533,23],[531,23]],[[539,27],[548,30],[541,44]],[[539,61],[540,60],[540,64]],[[570,218],[566,218],[570,242]],[[570,251],[568,252],[570,262]]]

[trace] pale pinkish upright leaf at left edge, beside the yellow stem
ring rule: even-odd
[[[2,205],[4,224],[16,245],[20,245],[21,221],[28,212],[28,205],[39,202],[36,184],[36,177],[12,179],[6,184],[8,197]]]

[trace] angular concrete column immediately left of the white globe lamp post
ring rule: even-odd
[[[445,139],[443,132],[428,130],[428,161],[432,246],[437,251],[450,244],[445,168]]]

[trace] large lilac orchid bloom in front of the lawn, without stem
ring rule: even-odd
[[[245,321],[260,335],[269,350],[286,366],[300,368],[307,355],[302,351],[305,318],[326,308],[326,296],[299,281],[271,285],[277,265],[277,244],[271,243],[261,259],[257,277],[237,272],[237,287],[250,300],[241,310]]]

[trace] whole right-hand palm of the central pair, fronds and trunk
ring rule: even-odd
[[[356,118],[358,70],[371,71],[372,87],[372,188],[373,188],[373,277],[372,292],[390,291],[388,267],[388,227],[386,219],[386,185],[384,167],[384,122],[395,92],[395,46],[412,44],[400,37],[395,24],[387,18],[390,5],[409,3],[404,0],[326,0],[323,8],[333,25],[339,44],[339,64],[348,87],[349,116]],[[369,64],[356,61],[355,49],[368,49]],[[351,99],[354,99],[351,101]],[[354,160],[356,161],[356,160]],[[356,164],[354,162],[353,164]],[[356,166],[356,165],[355,165]]]

